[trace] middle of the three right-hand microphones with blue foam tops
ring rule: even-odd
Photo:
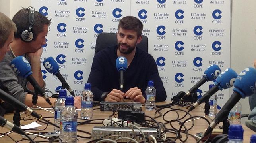
[[[216,81],[214,82],[214,86],[209,89],[209,91],[206,92],[206,94],[204,94],[200,99],[198,99],[194,105],[190,106],[188,112],[192,111],[206,100],[209,100],[209,98],[217,91],[232,87],[236,77],[237,73],[231,68],[227,68],[217,77]]]

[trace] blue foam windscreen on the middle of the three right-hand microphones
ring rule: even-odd
[[[233,69],[227,68],[225,71],[221,72],[214,84],[219,88],[219,90],[227,89],[234,85],[236,78],[237,73]]]

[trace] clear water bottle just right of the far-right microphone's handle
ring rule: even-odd
[[[241,124],[241,111],[242,105],[240,102],[237,102],[229,112],[228,120],[230,124]]]

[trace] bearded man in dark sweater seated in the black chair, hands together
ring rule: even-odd
[[[130,98],[135,102],[145,103],[145,90],[149,80],[154,81],[156,102],[165,101],[166,92],[158,74],[153,57],[138,49],[136,45],[142,40],[143,24],[132,16],[120,20],[117,44],[99,51],[93,58],[88,83],[92,85],[94,100],[119,102]],[[124,72],[124,88],[120,89],[116,58],[127,58],[128,68]]]

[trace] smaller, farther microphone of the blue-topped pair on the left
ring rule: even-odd
[[[75,97],[74,92],[72,91],[66,80],[63,78],[63,76],[60,74],[60,68],[58,63],[52,57],[48,57],[44,60],[43,65],[49,73],[52,73],[56,75],[56,77],[58,77],[58,79],[62,83],[62,88],[66,88],[70,92],[70,94]]]

